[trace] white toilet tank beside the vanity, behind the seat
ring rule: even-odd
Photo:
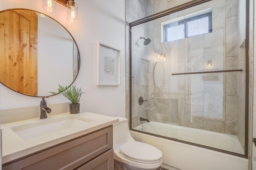
[[[113,125],[113,148],[119,149],[122,145],[127,143],[132,138],[129,128],[128,128],[128,119],[123,117],[118,117],[119,122]]]

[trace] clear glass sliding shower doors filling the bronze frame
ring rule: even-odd
[[[130,23],[131,130],[246,154],[248,61],[241,1],[210,0]],[[144,45],[140,37],[151,43]]]

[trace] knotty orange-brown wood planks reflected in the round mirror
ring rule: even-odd
[[[17,92],[37,95],[37,15],[11,10],[0,13],[1,23],[0,81]]]

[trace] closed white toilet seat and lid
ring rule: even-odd
[[[129,160],[140,163],[154,164],[162,160],[162,152],[159,149],[138,141],[129,141],[122,145],[120,154]]]

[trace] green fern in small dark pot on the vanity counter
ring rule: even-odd
[[[81,88],[76,88],[76,85],[71,85],[69,88],[68,86],[61,86],[59,84],[58,92],[61,93],[65,98],[67,98],[71,104],[69,104],[69,112],[70,114],[80,113],[80,97],[82,95]],[[51,94],[55,95],[56,92],[50,92]]]

